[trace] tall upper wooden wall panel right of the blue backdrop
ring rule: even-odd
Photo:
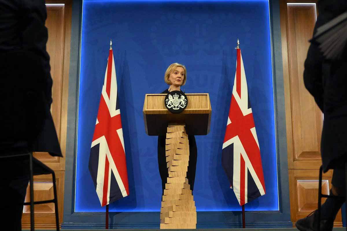
[[[320,154],[319,154],[319,144],[320,144],[320,134],[322,127],[322,115],[315,108],[315,122],[313,123],[311,118],[313,117],[310,114],[310,110],[307,109],[307,102],[305,99],[309,99],[308,106],[312,112],[312,100],[313,97],[307,95],[308,92],[304,88],[303,83],[303,66],[304,60],[308,50],[308,39],[312,36],[312,31],[307,32],[309,36],[307,39],[301,39],[301,33],[296,33],[295,31],[295,19],[302,19],[305,15],[300,14],[303,12],[299,12],[296,14],[295,18],[294,10],[287,9],[287,2],[298,2],[298,1],[280,1],[280,25],[281,25],[281,40],[282,40],[282,59],[283,59],[283,83],[285,90],[285,107],[286,107],[286,129],[287,129],[287,150],[288,150],[288,168],[313,168],[316,169],[316,166],[321,165]],[[313,1],[305,1],[305,2],[313,2]],[[293,7],[302,7],[300,5],[292,5]],[[306,8],[309,8],[306,5]],[[311,8],[314,8],[311,5]],[[310,9],[306,9],[310,10]],[[311,9],[312,16],[312,9]],[[291,21],[291,24],[288,25],[288,21]],[[297,21],[296,21],[297,23]],[[305,24],[305,22],[302,22]],[[312,24],[311,24],[312,26]],[[299,30],[303,30],[303,26],[299,27]],[[307,30],[310,30],[308,28]],[[289,33],[290,32],[290,33]],[[311,33],[311,34],[310,34]],[[299,50],[299,58],[298,49],[297,49],[297,40],[300,43],[298,47]],[[294,42],[293,42],[294,41]],[[294,76],[294,77],[293,77]],[[304,95],[300,95],[300,94]],[[303,102],[303,105],[301,103]],[[313,101],[314,102],[314,101]],[[318,115],[317,115],[318,114]],[[304,115],[304,117],[302,117]],[[306,115],[310,115],[310,118],[305,118]],[[310,126],[307,126],[307,121],[312,125],[313,131]],[[304,125],[303,129],[301,125]],[[304,131],[302,131],[304,130]],[[308,137],[308,141],[306,141],[306,137]],[[317,144],[317,145],[316,145]],[[314,147],[314,149],[310,149],[310,147]],[[301,161],[298,161],[301,159]],[[302,160],[306,159],[310,163],[307,166],[306,162]],[[313,166],[313,167],[312,167]]]

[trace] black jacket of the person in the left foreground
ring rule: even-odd
[[[0,153],[62,156],[53,119],[44,0],[0,0]]]

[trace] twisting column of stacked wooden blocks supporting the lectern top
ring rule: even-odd
[[[196,207],[188,184],[189,142],[184,124],[169,124],[166,162],[169,172],[160,210],[160,229],[196,229]]]

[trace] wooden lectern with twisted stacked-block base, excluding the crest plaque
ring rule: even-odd
[[[160,229],[196,229],[196,207],[188,182],[189,135],[207,135],[211,124],[209,94],[186,94],[180,114],[164,105],[166,94],[146,94],[143,118],[148,135],[166,135],[169,172],[160,210]]]

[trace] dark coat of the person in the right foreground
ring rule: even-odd
[[[319,16],[313,34],[346,10],[345,0],[318,1]],[[342,59],[336,61],[324,59],[318,46],[311,44],[304,83],[324,114],[321,153],[323,170],[327,171],[344,163],[347,156],[347,47]]]

